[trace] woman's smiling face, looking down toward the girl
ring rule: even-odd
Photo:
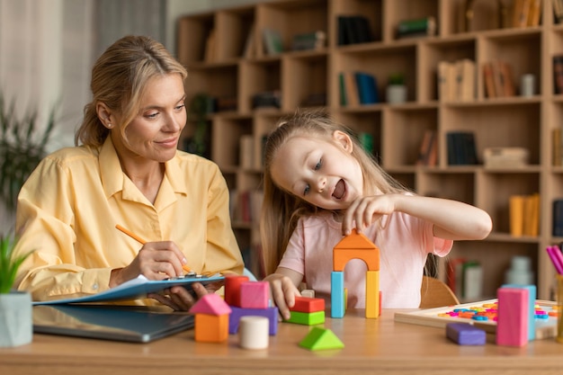
[[[164,163],[174,157],[186,123],[184,100],[182,76],[151,78],[140,98],[139,113],[125,129],[126,139],[121,129],[112,130],[112,141],[121,162],[145,159]]]

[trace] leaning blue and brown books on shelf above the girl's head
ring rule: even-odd
[[[377,78],[370,73],[342,72],[338,79],[342,106],[380,103]]]

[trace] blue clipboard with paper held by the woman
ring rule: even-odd
[[[116,300],[145,299],[148,293],[157,293],[174,286],[183,286],[187,290],[192,290],[193,282],[201,284],[210,284],[225,280],[224,276],[194,276],[168,280],[147,280],[143,275],[139,275],[136,279],[123,282],[121,285],[104,290],[90,296],[77,297],[72,299],[54,299],[46,301],[33,301],[33,305],[57,305],[66,303],[83,303],[83,302],[111,302]]]

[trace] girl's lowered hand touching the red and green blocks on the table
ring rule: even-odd
[[[270,282],[273,303],[280,310],[281,317],[290,318],[290,308],[295,305],[295,296],[300,296],[297,287],[303,281],[303,275],[285,267],[278,267],[275,272],[264,278]]]

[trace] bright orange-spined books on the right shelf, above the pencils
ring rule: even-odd
[[[537,237],[540,230],[540,194],[511,195],[508,202],[510,234]]]

